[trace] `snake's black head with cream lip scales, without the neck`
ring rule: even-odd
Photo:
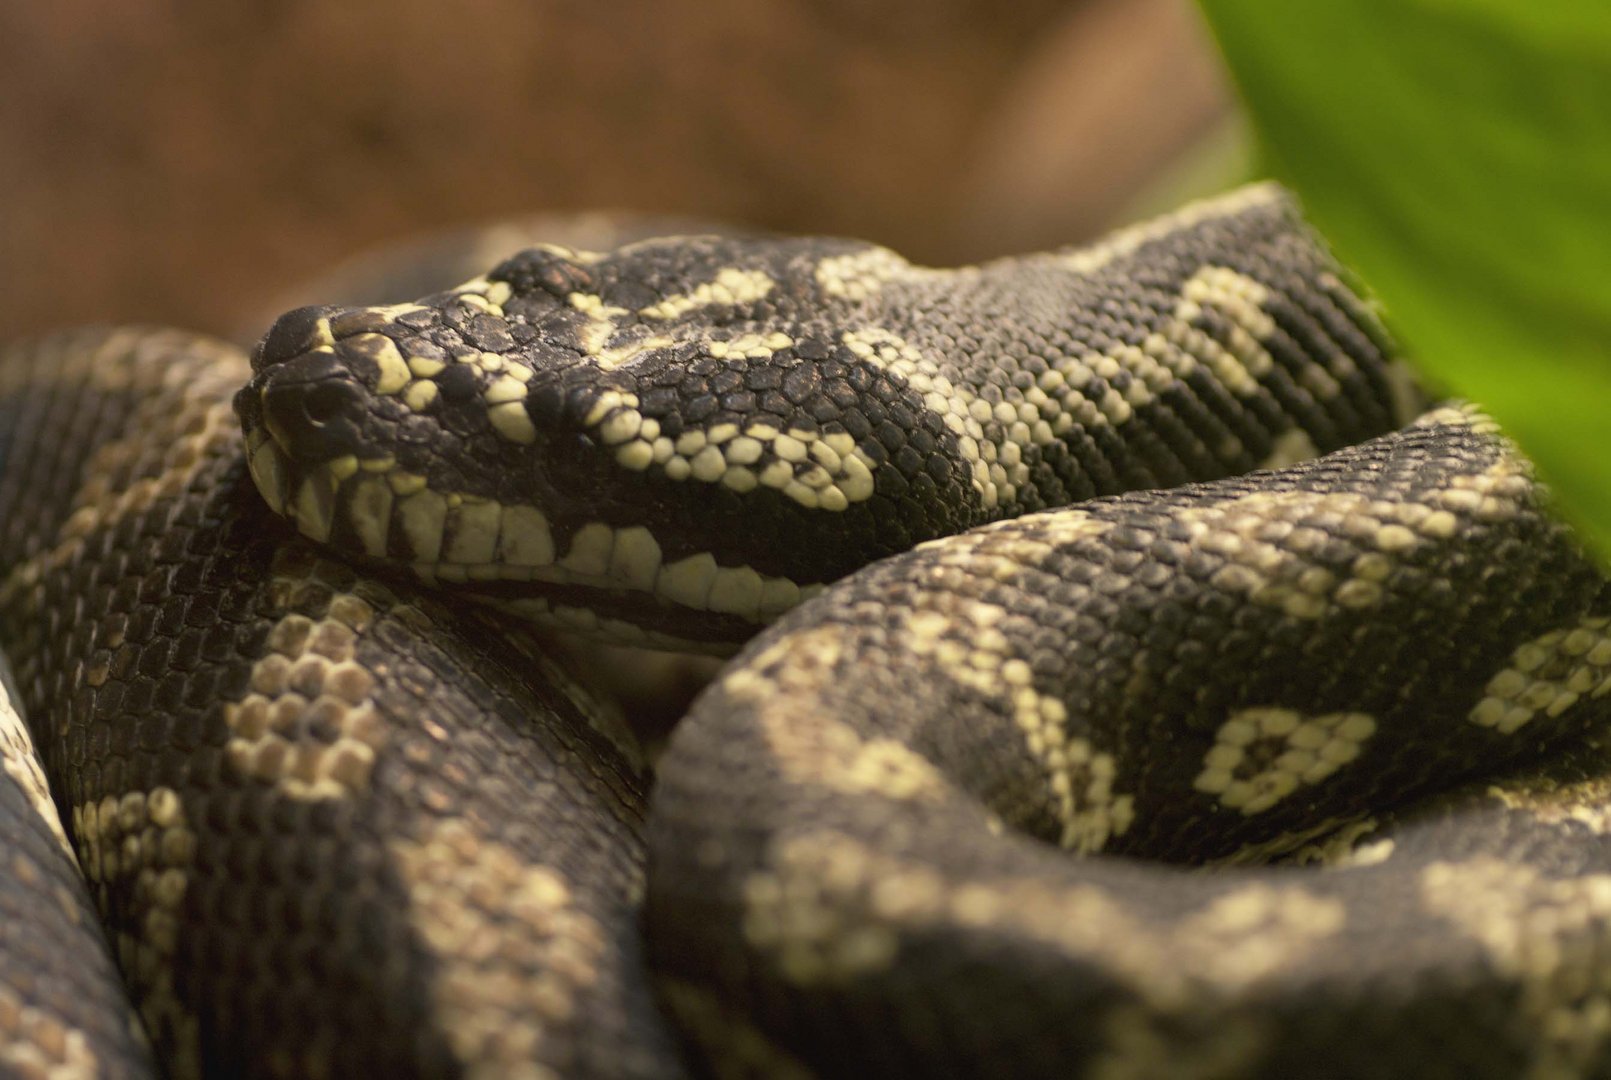
[[[973,493],[942,427],[880,424],[923,400],[825,319],[854,306],[823,295],[825,245],[881,251],[533,248],[417,303],[300,308],[237,395],[251,474],[304,535],[519,614],[743,640]]]

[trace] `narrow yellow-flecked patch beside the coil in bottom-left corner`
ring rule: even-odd
[[[171,1048],[177,1077],[201,1075],[200,1025],[174,987],[174,953],[197,835],[172,788],[130,791],[72,808],[79,866],[103,916],[119,896],[118,966],[134,988],[145,1030]]]

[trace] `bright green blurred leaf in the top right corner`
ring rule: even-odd
[[[1274,174],[1611,555],[1611,6],[1200,5]]]

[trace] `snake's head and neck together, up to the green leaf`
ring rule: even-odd
[[[1276,189],[936,271],[852,240],[535,248],[301,308],[237,398],[314,540],[517,614],[735,643],[913,543],[1408,419]]]

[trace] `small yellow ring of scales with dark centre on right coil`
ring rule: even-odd
[[[1220,725],[1192,787],[1226,809],[1261,814],[1358,758],[1374,733],[1376,721],[1365,712],[1237,709]]]

